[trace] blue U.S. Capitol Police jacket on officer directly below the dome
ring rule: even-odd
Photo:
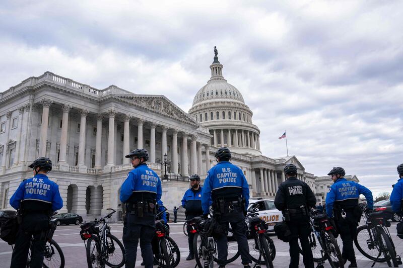
[[[201,194],[201,208],[204,214],[209,214],[212,193],[220,189],[229,191],[239,189],[242,197],[246,200],[245,207],[246,209],[248,208],[249,185],[242,170],[228,161],[221,161],[207,172],[203,193]]]

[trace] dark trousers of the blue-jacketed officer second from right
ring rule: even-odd
[[[353,241],[357,234],[357,222],[353,219],[340,219],[337,221],[340,237],[343,240],[342,256],[350,262],[356,262]]]

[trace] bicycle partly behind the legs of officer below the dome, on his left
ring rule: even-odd
[[[212,236],[205,232],[204,227],[206,220],[199,216],[186,221],[188,224],[188,232],[194,234],[193,237],[193,252],[194,258],[196,259],[196,266],[199,268],[203,267],[213,267],[214,261],[218,262],[217,257],[217,241]],[[239,257],[238,249],[233,250],[232,243],[235,239],[231,239],[233,237],[232,231],[229,230],[227,237],[230,239],[228,241],[228,256],[226,263],[231,263]],[[236,243],[236,242],[235,242]],[[204,260],[204,263],[201,263],[201,259]]]

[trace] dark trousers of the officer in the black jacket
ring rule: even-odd
[[[311,233],[311,228],[309,223],[300,223],[300,222],[288,222],[288,227],[291,231],[291,240],[290,244],[290,268],[296,268],[299,266],[299,246],[298,246],[298,238],[301,242],[302,247],[302,259],[304,262],[304,266],[308,268],[313,268],[313,256],[311,246],[309,245],[309,235]]]

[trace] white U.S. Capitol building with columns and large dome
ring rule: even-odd
[[[260,150],[260,130],[242,94],[223,76],[217,55],[211,78],[196,93],[189,112],[167,97],[138,95],[110,85],[90,85],[45,72],[0,93],[0,209],[38,156],[53,161],[49,177],[63,199],[59,212],[92,217],[124,208],[120,186],[131,169],[124,155],[135,148],[150,153],[148,165],[165,175],[162,201],[172,209],[188,189],[187,177],[205,177],[218,147],[228,146],[232,162],[244,172],[252,196],[273,198],[285,181],[283,167],[294,163],[298,178],[315,191],[314,175],[295,156],[270,158]]]

